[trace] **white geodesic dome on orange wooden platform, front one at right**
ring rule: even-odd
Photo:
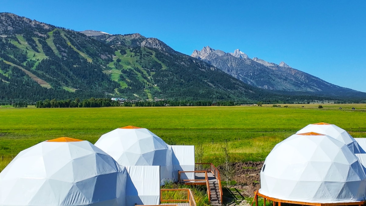
[[[294,134],[266,157],[259,193],[310,203],[363,201],[366,174],[343,142],[318,134]]]

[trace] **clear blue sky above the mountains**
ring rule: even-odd
[[[76,31],[140,33],[190,55],[209,45],[366,92],[366,1],[1,0],[11,12]]]

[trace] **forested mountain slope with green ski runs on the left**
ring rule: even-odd
[[[139,34],[93,38],[0,14],[0,99],[251,100],[262,91]],[[268,95],[268,94],[265,94]]]

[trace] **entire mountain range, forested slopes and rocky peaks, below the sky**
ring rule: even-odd
[[[243,66],[234,66],[230,61]],[[285,63],[267,63],[250,59],[240,50],[225,53],[210,47],[195,50],[191,57],[159,39],[137,33],[77,32],[0,13],[0,100],[3,101],[122,97],[296,102],[366,98],[363,92],[326,83]],[[221,66],[225,64],[226,68]],[[291,71],[296,74],[291,75]],[[246,77],[245,73],[251,75]],[[287,76],[281,77],[284,74]],[[303,88],[285,82],[300,82],[301,75],[311,81],[302,83]],[[267,83],[268,79],[272,84]],[[317,85],[313,85],[313,79]],[[333,95],[334,91],[338,93]]]

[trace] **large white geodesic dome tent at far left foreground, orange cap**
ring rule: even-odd
[[[0,173],[0,205],[123,206],[127,171],[88,141],[61,137],[20,152]]]

